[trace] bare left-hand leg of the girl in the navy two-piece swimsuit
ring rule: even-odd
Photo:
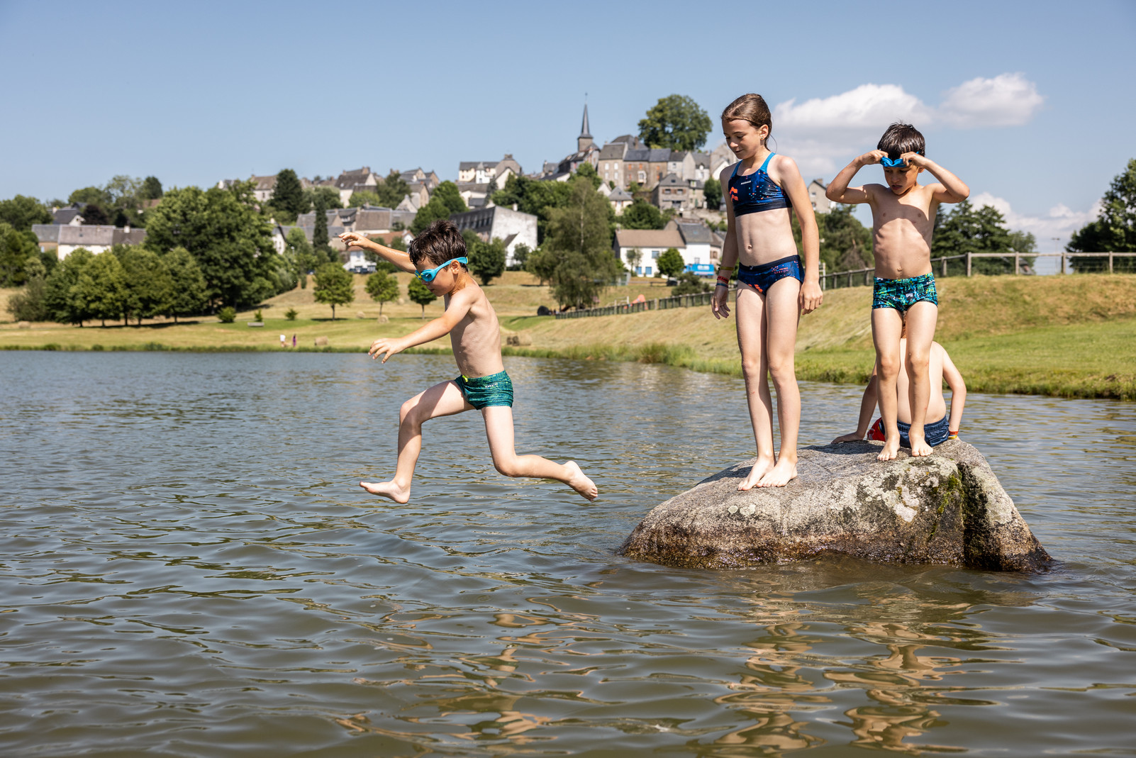
[[[766,298],[753,288],[738,284],[736,310],[745,401],[750,407],[750,423],[758,448],[758,459],[737,489],[750,490],[774,467],[774,402],[766,380]]]

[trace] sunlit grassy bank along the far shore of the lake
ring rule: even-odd
[[[378,305],[356,280],[357,301],[337,309],[316,303],[311,290],[293,290],[264,308],[265,326],[249,327],[251,313],[233,324],[215,318],[174,324],[164,319],[139,326],[0,324],[0,348],[60,350],[273,350],[285,334],[291,349],[358,351],[378,336],[398,336],[421,325],[420,316],[441,314],[441,301],[425,313],[406,300],[409,275],[400,275],[403,302],[387,303],[386,323],[375,320]],[[0,291],[5,299],[11,291]],[[507,355],[579,360],[637,360],[701,372],[738,375],[733,318],[716,320],[708,308],[648,311],[627,316],[561,319],[534,316],[552,307],[548,288],[527,274],[509,273],[486,288],[506,333],[525,335],[531,345],[506,348]],[[666,297],[653,282],[609,290],[634,299]],[[797,376],[825,382],[863,382],[871,368],[870,288],[833,290],[825,305],[801,319]],[[283,311],[294,308],[295,320]],[[345,317],[344,317],[345,316]],[[327,338],[327,347],[317,347]],[[978,392],[1025,392],[1061,397],[1136,400],[1136,276],[1076,275],[1045,277],[975,276],[939,282],[937,339],[950,350]],[[417,352],[445,352],[438,341]]]

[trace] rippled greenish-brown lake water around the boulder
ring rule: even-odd
[[[1136,405],[971,395],[1055,570],[615,555],[751,455],[741,381],[507,359],[518,449],[427,424],[438,356],[0,353],[5,756],[1136,755]],[[802,384],[802,444],[859,388]]]

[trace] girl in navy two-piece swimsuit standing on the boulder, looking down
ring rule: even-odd
[[[758,459],[737,489],[785,486],[796,476],[796,436],[801,426],[801,393],[796,386],[793,349],[801,313],[820,306],[820,244],[817,219],[801,172],[792,158],[766,147],[772,118],[760,94],[743,94],[721,114],[726,143],[738,163],[726,166],[719,180],[728,192],[727,231],[711,309],[729,316],[729,278],[737,274],[737,344],[758,444]],[[801,225],[804,263],[793,240],[790,214]],[[766,375],[777,390],[780,451],[774,458],[772,399]]]

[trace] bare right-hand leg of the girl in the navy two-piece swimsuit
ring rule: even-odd
[[[758,486],[785,486],[790,480],[796,478],[801,391],[796,385],[793,351],[796,349],[796,326],[801,318],[800,293],[801,283],[792,276],[778,280],[766,293],[766,361],[777,391],[780,450],[777,465],[761,477]]]

